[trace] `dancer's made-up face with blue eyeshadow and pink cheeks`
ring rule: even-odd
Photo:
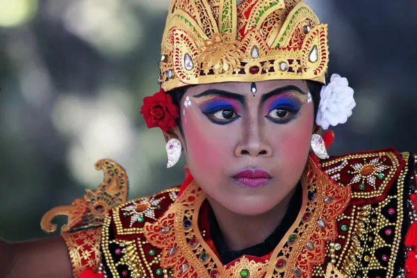
[[[259,215],[297,185],[306,164],[314,107],[304,81],[216,83],[181,101],[188,167],[204,192],[234,213]]]

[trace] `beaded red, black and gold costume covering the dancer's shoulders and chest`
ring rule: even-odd
[[[198,219],[206,198],[188,174],[181,195],[179,188],[170,188],[110,211],[101,231],[102,270],[107,277],[243,277],[243,270],[251,278],[396,277],[394,266],[406,251],[401,249],[410,190],[405,190],[406,176],[414,181],[409,159],[393,149],[320,163],[311,156],[302,177],[302,208],[279,245],[266,259],[242,256],[228,265],[222,265],[199,228],[206,221]],[[361,187],[363,179],[354,179],[359,171],[364,177],[374,174],[374,186]],[[144,213],[151,206],[153,213]],[[80,264],[74,277],[85,268],[99,268],[99,229],[84,233],[66,238],[73,261]],[[410,247],[417,246],[417,239],[408,239]],[[414,266],[409,263],[402,274],[406,271]]]

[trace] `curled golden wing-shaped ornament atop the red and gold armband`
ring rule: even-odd
[[[51,224],[51,221],[58,215],[68,218],[61,234],[99,227],[108,210],[127,201],[129,181],[122,166],[105,159],[98,161],[95,168],[104,171],[104,180],[99,187],[94,191],[86,190],[85,196],[72,202],[72,206],[58,206],[45,213],[40,223],[42,230],[46,233],[56,231],[56,224]]]

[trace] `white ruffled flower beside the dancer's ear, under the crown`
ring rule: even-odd
[[[320,92],[320,104],[316,123],[323,129],[347,122],[356,106],[353,98],[353,89],[345,77],[333,74],[330,83],[323,86]]]

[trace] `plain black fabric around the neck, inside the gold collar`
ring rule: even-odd
[[[208,222],[210,227],[210,234],[215,245],[216,250],[220,254],[220,259],[222,260],[223,264],[231,263],[232,261],[240,258],[243,255],[247,256],[265,256],[270,254],[275,247],[281,241],[281,238],[286,234],[288,229],[291,228],[295,220],[297,219],[298,213],[300,212],[302,204],[302,186],[299,184],[295,190],[293,197],[290,200],[290,204],[288,205],[288,209],[286,211],[286,215],[281,221],[281,224],[272,232],[268,238],[263,241],[263,243],[259,243],[252,247],[245,248],[244,250],[229,250],[227,243],[224,241],[222,236],[222,232],[220,231],[220,227],[218,222],[215,218],[215,214],[213,209],[210,207],[208,211]],[[259,227],[261,229],[261,227]]]

